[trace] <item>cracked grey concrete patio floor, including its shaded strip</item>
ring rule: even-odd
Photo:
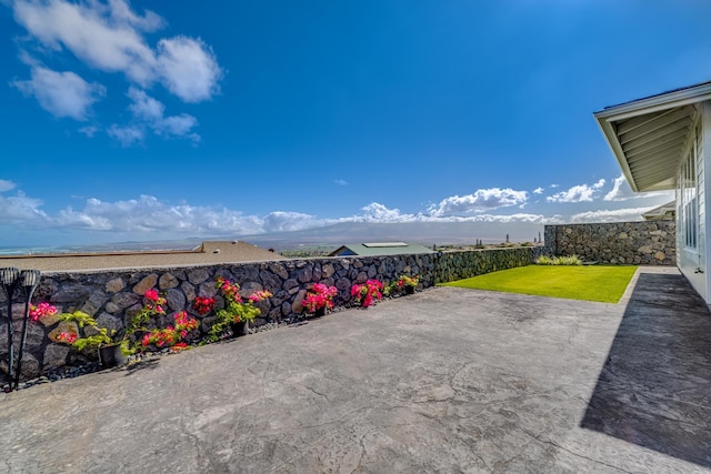
[[[711,314],[438,288],[0,395],[9,473],[711,471]]]

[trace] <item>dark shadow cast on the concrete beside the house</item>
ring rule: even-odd
[[[639,275],[581,426],[711,467],[711,313],[682,275]]]

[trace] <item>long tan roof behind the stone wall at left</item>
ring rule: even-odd
[[[208,241],[193,250],[146,252],[57,253],[46,255],[0,255],[0,268],[67,272],[77,270],[139,269],[147,266],[212,265],[286,260],[278,253],[242,241]]]

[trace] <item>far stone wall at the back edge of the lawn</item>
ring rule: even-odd
[[[675,265],[674,221],[545,225],[545,253],[609,264]]]

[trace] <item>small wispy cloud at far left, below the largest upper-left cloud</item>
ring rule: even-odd
[[[29,81],[14,81],[12,85],[23,94],[34,97],[42,109],[57,118],[87,120],[91,105],[106,94],[103,85],[90,84],[71,71],[57,72],[32,65],[31,77]]]

